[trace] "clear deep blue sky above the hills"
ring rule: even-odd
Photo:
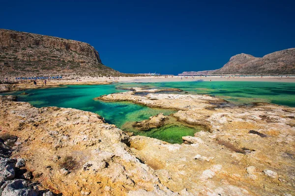
[[[231,56],[295,47],[286,0],[0,1],[0,28],[87,42],[123,73],[222,67]]]

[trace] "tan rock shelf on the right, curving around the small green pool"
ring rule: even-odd
[[[132,151],[175,192],[186,188],[192,195],[295,194],[294,108],[266,103],[229,107],[209,96],[136,96],[136,90],[97,99],[177,109],[172,116],[179,122],[205,127],[195,137],[183,137],[182,145],[131,137]],[[135,125],[144,127],[159,118],[164,121],[165,116]]]

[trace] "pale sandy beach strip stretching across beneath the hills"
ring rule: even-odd
[[[47,79],[45,85],[44,80],[36,80],[37,85],[32,80],[9,80],[10,82],[18,82],[14,84],[1,84],[0,92],[20,91],[26,89],[52,88],[63,85],[99,85],[111,84],[113,82],[188,82],[188,81],[254,81],[254,82],[295,82],[295,76],[279,77],[279,76],[246,76],[246,77],[226,77],[226,76],[136,76],[136,77],[81,77],[73,79],[73,76],[63,79]]]

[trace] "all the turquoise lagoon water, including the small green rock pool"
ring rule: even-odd
[[[18,96],[19,101],[27,101],[35,107],[58,106],[76,108],[97,113],[105,118],[107,123],[116,124],[124,130],[124,124],[142,121],[160,112],[165,115],[174,113],[173,110],[149,108],[130,102],[103,102],[93,98],[124,92],[119,88],[179,88],[179,94],[207,94],[224,98],[235,104],[251,102],[269,102],[295,107],[295,83],[281,82],[159,82],[159,83],[116,83],[110,85],[71,85],[60,88],[37,89],[6,94]],[[20,95],[26,92],[28,95]],[[164,92],[165,93],[165,92]],[[170,143],[181,143],[182,136],[194,135],[200,127],[187,127],[181,124],[168,124],[148,131],[133,131],[137,135],[158,138]]]

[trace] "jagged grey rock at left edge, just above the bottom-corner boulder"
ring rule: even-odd
[[[0,180],[13,179],[15,176],[15,160],[0,157]]]

